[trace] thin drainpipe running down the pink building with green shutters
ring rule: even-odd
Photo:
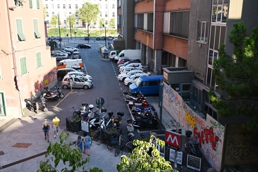
[[[11,41],[11,47],[12,47],[12,62],[14,65],[14,77],[19,77],[17,74],[17,64],[16,64],[16,57],[15,57],[15,50],[14,50],[14,45],[13,45],[13,38],[12,38],[12,28],[11,28],[11,23],[10,23],[10,12],[9,12],[9,4],[8,0],[6,0],[6,8],[7,8],[7,14],[8,14],[8,24],[9,24],[9,32],[10,32],[10,41]],[[19,95],[19,101],[20,101],[20,110],[21,110],[21,115],[23,116],[23,108],[21,106],[21,91],[19,87],[17,87],[18,90],[18,95]]]

